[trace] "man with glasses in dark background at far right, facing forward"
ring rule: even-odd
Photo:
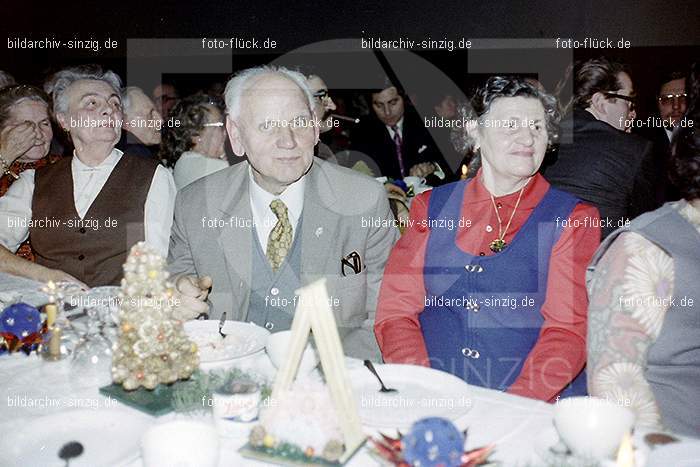
[[[639,134],[654,143],[654,158],[659,174],[656,197],[659,204],[680,199],[681,195],[668,178],[671,158],[671,138],[686,110],[685,75],[680,71],[665,74],[659,82],[656,96],[658,120],[640,129]]]

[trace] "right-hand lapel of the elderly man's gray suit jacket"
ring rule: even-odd
[[[325,163],[314,159],[314,165],[304,193],[301,243],[301,280],[307,283],[318,275],[327,274],[329,261],[338,263],[341,258],[331,257],[331,247],[337,240],[337,232],[342,213],[335,212],[335,189],[326,175]]]

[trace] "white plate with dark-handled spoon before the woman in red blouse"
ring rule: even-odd
[[[374,365],[389,388],[364,366],[348,371],[362,424],[373,428],[407,429],[425,417],[456,421],[472,408],[469,385],[454,375],[416,365]]]

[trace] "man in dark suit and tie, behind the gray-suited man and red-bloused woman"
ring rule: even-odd
[[[423,126],[419,115],[406,106],[398,88],[389,85],[371,93],[373,116],[363,119],[353,133],[353,151],[370,156],[381,174],[393,179],[427,177],[437,166],[449,166]]]

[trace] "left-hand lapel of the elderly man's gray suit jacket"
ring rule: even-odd
[[[242,321],[248,310],[253,251],[253,229],[246,226],[252,225],[253,213],[250,209],[248,163],[241,165],[244,167],[231,178],[230,185],[238,188],[232,190],[221,204],[222,220],[226,224],[219,228],[218,242],[226,258],[234,300],[238,300],[238,303],[234,303],[233,310],[236,316],[230,319]],[[238,226],[234,224],[236,219]],[[240,225],[243,221],[246,224]],[[239,278],[238,281],[236,277]]]

